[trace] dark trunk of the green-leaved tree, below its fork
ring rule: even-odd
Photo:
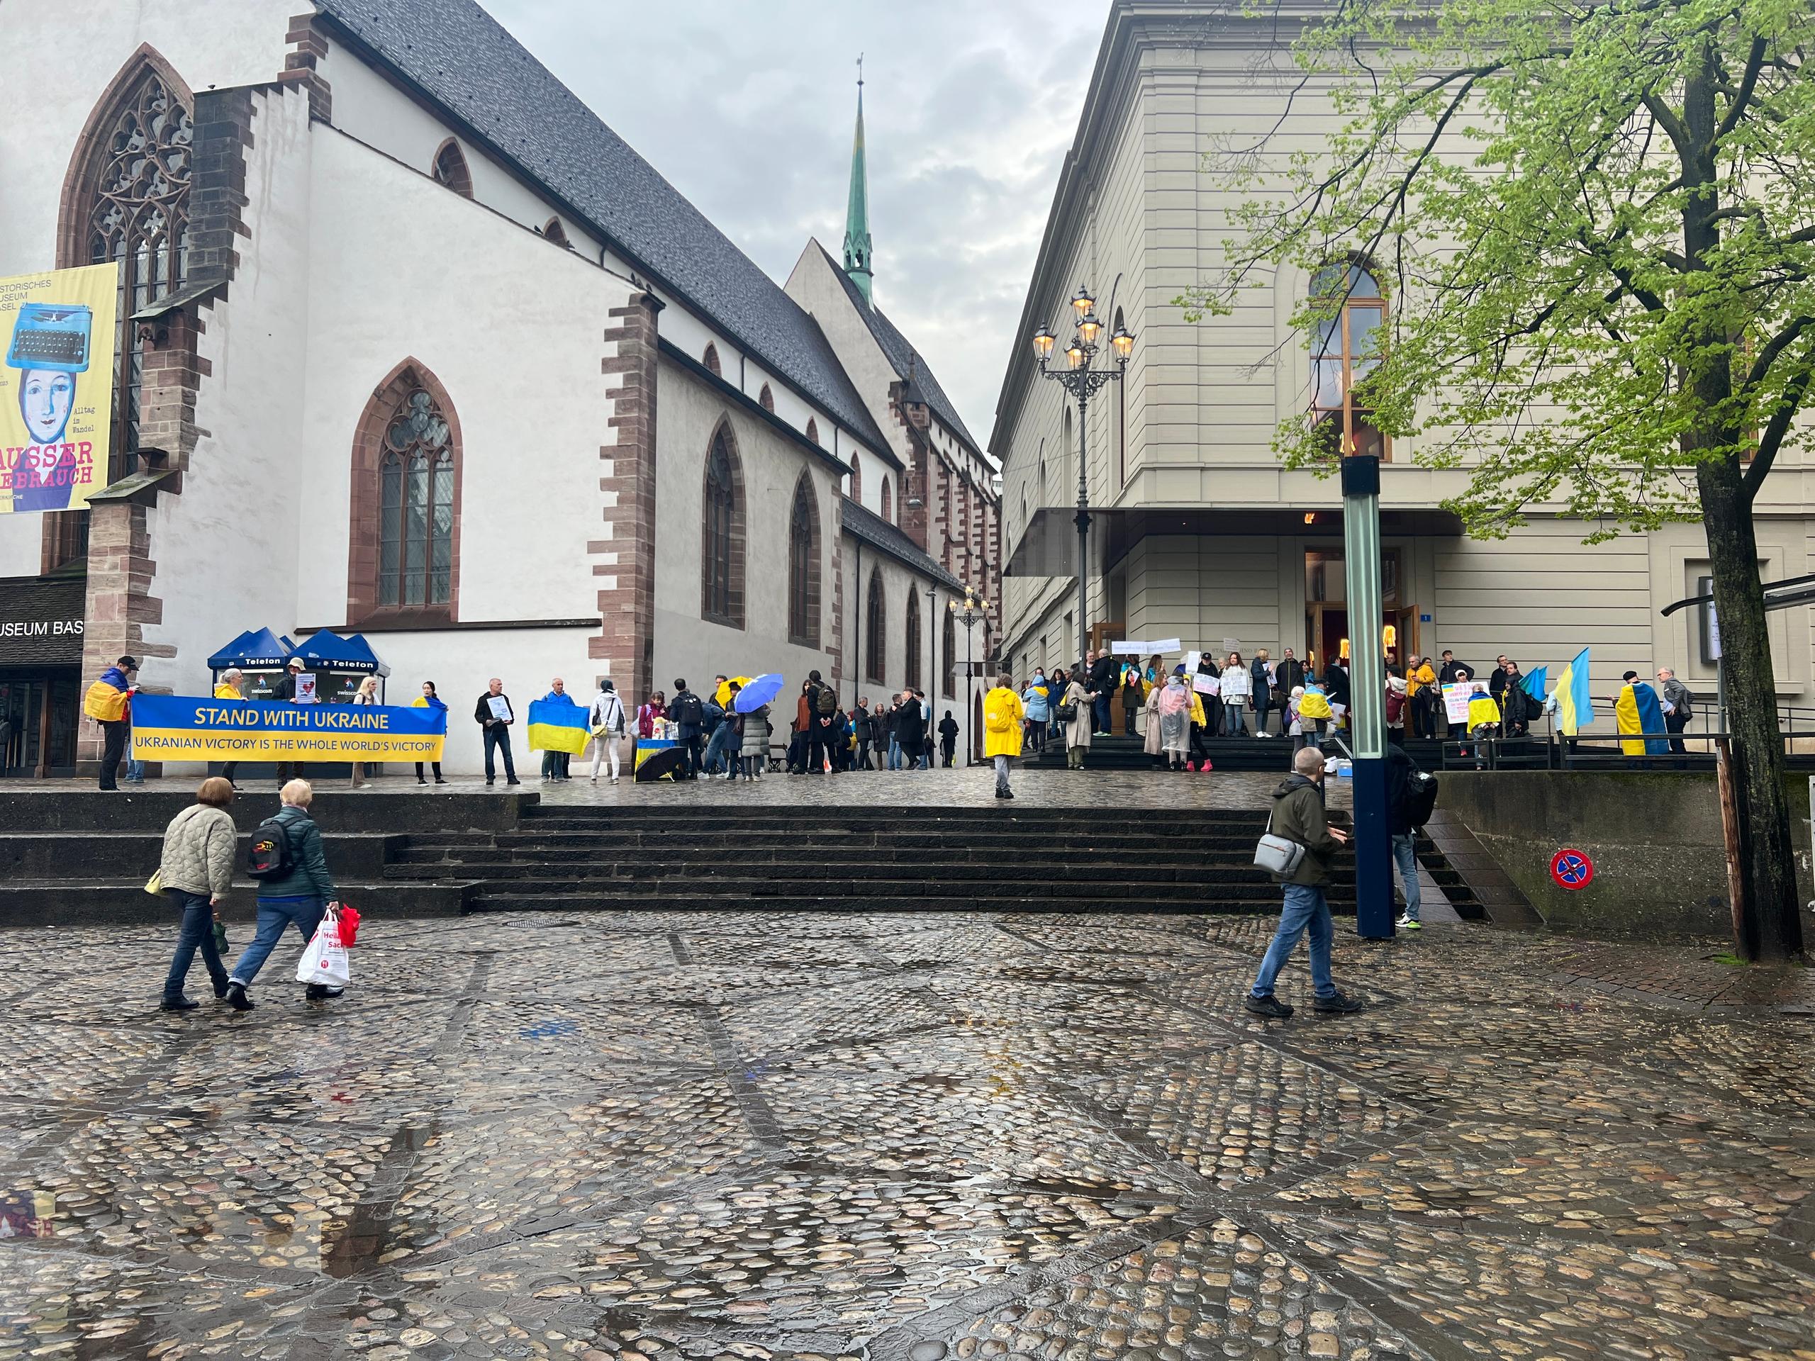
[[[1739,918],[1741,949],[1748,960],[1781,960],[1802,953],[1802,915],[1759,541],[1737,459],[1702,463],[1695,481],[1721,619],[1728,726],[1739,751],[1741,878],[1748,898]]]

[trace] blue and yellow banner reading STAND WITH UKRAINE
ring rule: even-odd
[[[138,760],[441,760],[446,710],[132,697]]]

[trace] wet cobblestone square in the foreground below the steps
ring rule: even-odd
[[[1806,1020],[1339,925],[1261,1022],[1269,927],[381,922],[187,1016],[9,933],[0,1357],[1815,1356]]]

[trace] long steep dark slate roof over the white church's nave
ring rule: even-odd
[[[474,140],[753,356],[888,448],[819,325],[477,0],[314,0]]]

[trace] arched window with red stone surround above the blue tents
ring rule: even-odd
[[[414,359],[367,403],[354,437],[347,615],[452,621],[459,599],[459,421]]]

